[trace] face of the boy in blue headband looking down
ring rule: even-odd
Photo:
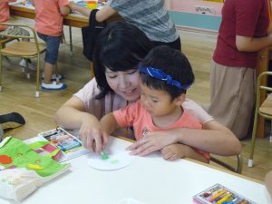
[[[140,83],[141,102],[147,112],[153,117],[170,115],[180,109],[180,99],[171,101],[170,94],[161,90],[154,90]]]

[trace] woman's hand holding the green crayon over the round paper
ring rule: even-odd
[[[102,151],[108,144],[109,135],[102,130],[100,121],[89,113],[85,113],[82,120],[79,136],[84,148],[94,152]]]

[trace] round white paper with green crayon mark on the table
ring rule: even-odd
[[[105,150],[107,152],[107,150]],[[119,170],[131,164],[133,156],[128,151],[115,151],[109,154],[109,159],[102,160],[100,154],[93,153],[88,160],[90,167],[96,170]]]

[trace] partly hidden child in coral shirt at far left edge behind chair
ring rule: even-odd
[[[8,23],[8,21],[10,19],[9,7],[8,7],[9,2],[16,2],[16,0],[0,0],[0,22],[2,22],[2,23]],[[7,27],[5,25],[0,25],[0,33],[29,35],[28,31],[26,31],[22,28],[12,27],[12,26]],[[1,37],[0,37],[0,40],[1,40]],[[26,39],[24,39],[24,40],[26,40]],[[30,60],[22,59],[19,64],[25,68],[26,63],[28,63],[29,69],[36,70],[34,63],[32,63]]]

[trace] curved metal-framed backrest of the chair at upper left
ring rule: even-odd
[[[36,50],[37,52],[39,53],[40,52],[40,48],[39,48],[39,44],[38,44],[38,38],[37,38],[37,33],[36,31],[34,30],[34,28],[28,24],[14,24],[14,23],[3,23],[3,22],[0,22],[0,25],[6,25],[6,26],[13,26],[13,27],[17,27],[18,29],[24,29],[26,31],[29,32],[29,35],[21,35],[20,32],[19,34],[17,33],[5,33],[5,32],[2,32],[0,33],[0,38],[3,38],[3,40],[1,40],[1,42],[3,41],[5,43],[8,43],[14,39],[26,39],[26,40],[29,40],[29,41],[34,41],[34,43],[36,44]],[[9,39],[9,40],[7,40]],[[5,44],[0,44],[0,49],[3,49],[5,48]]]

